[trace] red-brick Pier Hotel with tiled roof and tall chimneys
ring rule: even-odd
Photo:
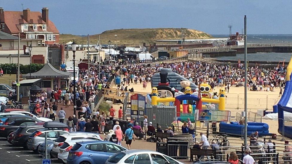
[[[18,36],[21,39],[42,39],[42,45],[59,43],[59,31],[49,20],[49,10],[42,8],[42,13],[30,11],[4,11],[0,7],[0,30]]]

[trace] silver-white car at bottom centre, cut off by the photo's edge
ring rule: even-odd
[[[168,164],[183,164],[165,154],[150,151],[150,150],[127,150],[121,151],[110,157],[106,164],[126,164],[126,163],[168,163]]]

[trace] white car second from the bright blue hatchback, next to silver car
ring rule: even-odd
[[[62,146],[64,144],[64,142],[71,141],[71,140],[80,140],[80,139],[103,141],[98,133],[72,132],[72,133],[63,134],[63,135],[60,135],[54,141],[54,145],[53,145],[53,148],[52,148],[52,151],[51,151],[51,155],[54,158],[57,158],[58,157],[58,153],[60,152],[59,148],[60,148],[60,146]]]

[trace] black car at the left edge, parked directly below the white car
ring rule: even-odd
[[[28,116],[13,116],[8,117],[3,125],[0,125],[0,137],[8,137],[8,135],[16,131],[24,122],[39,122],[39,120]],[[22,124],[23,125],[23,124]],[[15,137],[15,136],[14,136]]]

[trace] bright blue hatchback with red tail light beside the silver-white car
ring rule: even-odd
[[[77,142],[69,151],[67,164],[104,164],[109,157],[124,150],[127,149],[113,142]]]

